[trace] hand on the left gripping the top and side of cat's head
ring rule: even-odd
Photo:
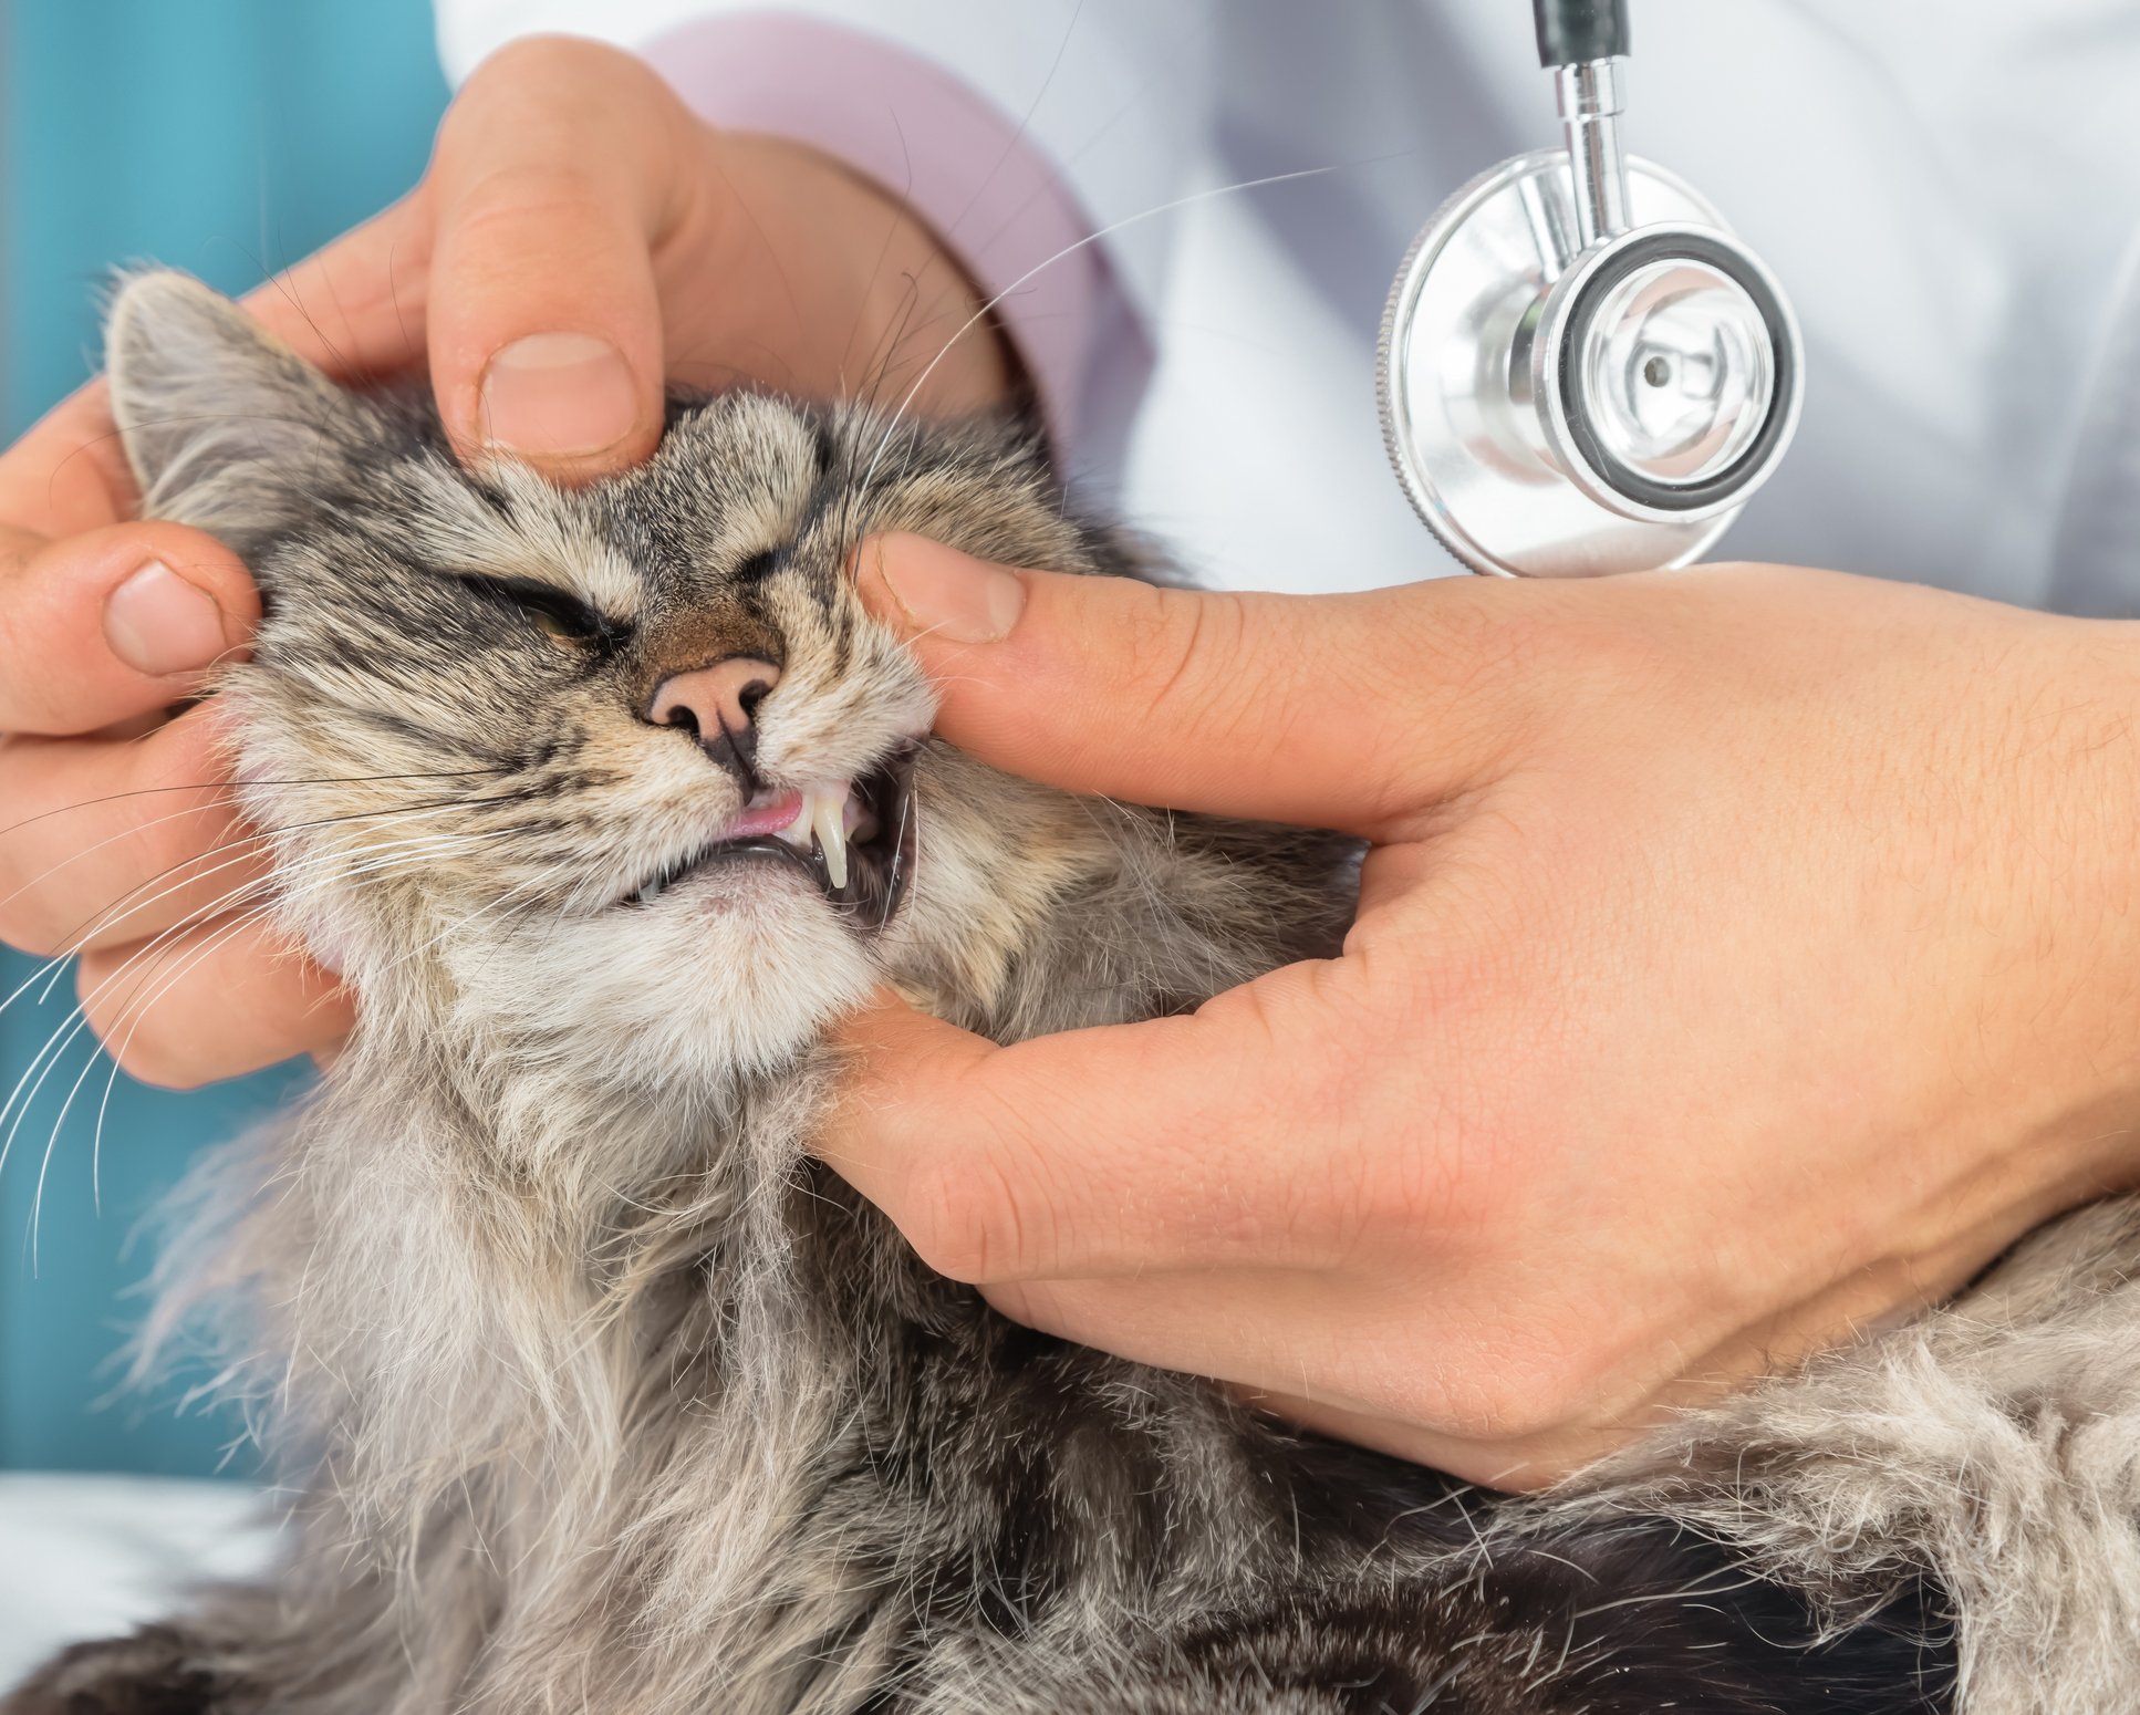
[[[582,41],[494,56],[424,182],[246,306],[342,379],[428,368],[464,456],[565,482],[653,452],[668,381],[944,411],[1010,385],[972,285],[899,203],[704,126]],[[158,719],[246,649],[250,578],[137,510],[101,383],[0,456],[0,940],[79,951],[107,1047],[190,1086],[323,1051],[351,1011],[253,914],[261,850],[212,700]]]

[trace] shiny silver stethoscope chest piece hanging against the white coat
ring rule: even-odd
[[[1481,173],[1412,242],[1382,437],[1472,572],[1686,565],[1791,443],[1798,321],[1708,201],[1620,152],[1626,0],[1532,9],[1566,148]]]

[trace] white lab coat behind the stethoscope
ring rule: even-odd
[[[1100,400],[1083,480],[1132,520],[1235,587],[1453,570],[1391,480],[1374,340],[1442,197],[1556,139],[1524,0],[439,0],[454,75],[732,11],[929,56],[1128,223],[1158,362]],[[2140,4],[1633,0],[1633,30],[1629,146],[1806,330],[1798,443],[1718,552],[2140,612]],[[1198,195],[1301,169],[1329,171]]]

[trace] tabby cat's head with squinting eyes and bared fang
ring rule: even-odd
[[[1269,963],[1224,921],[1271,914],[1233,852],[931,741],[927,681],[854,595],[892,529],[1106,567],[1029,437],[738,392],[561,490],[464,469],[422,392],[338,388],[180,274],[133,278],[107,345],[148,510],[259,578],[220,681],[242,801],[282,921],[374,1017],[719,1077],[886,974],[1006,1034],[1153,1011],[1183,961],[1203,991]],[[1044,946],[1083,1011],[1036,1000]]]

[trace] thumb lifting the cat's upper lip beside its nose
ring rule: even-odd
[[[937,730],[1072,792],[1391,837],[1522,737],[1530,587],[1235,595],[865,544],[862,602],[942,692]]]

